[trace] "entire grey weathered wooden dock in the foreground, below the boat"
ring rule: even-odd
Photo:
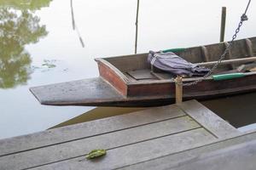
[[[190,100],[0,140],[0,169],[224,169],[256,166],[255,146],[256,133]],[[87,160],[95,149],[107,155]]]

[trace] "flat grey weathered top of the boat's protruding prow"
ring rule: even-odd
[[[100,77],[39,86],[30,88],[30,91],[44,105],[108,103],[124,99],[123,95]]]

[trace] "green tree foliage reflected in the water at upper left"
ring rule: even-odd
[[[0,1],[0,88],[15,88],[30,78],[32,59],[25,46],[48,33],[34,10],[50,1]]]

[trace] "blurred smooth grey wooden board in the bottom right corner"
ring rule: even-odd
[[[174,167],[177,170],[241,170],[256,167],[256,140],[230,146],[223,150],[212,151],[212,153],[199,157],[193,162],[185,162],[180,167]]]

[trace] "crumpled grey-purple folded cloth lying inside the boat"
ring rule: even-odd
[[[172,52],[149,51],[148,62],[156,68],[172,73],[173,75],[204,76],[210,69],[198,66],[177,56]]]

